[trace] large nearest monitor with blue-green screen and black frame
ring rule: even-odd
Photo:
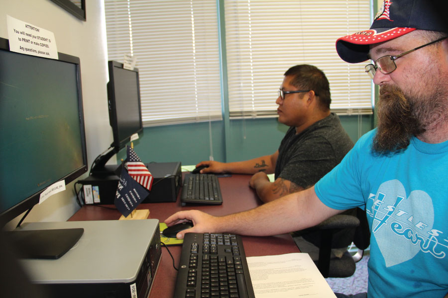
[[[0,39],[1,224],[39,202],[51,184],[87,171],[79,58],[8,51]]]

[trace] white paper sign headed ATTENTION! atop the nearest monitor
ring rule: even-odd
[[[9,50],[17,53],[58,59],[54,34],[7,15]]]

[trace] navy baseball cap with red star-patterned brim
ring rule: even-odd
[[[384,0],[370,29],[336,40],[339,57],[348,63],[369,59],[369,45],[385,42],[416,29],[448,32],[447,0]]]

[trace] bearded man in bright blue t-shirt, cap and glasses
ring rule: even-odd
[[[380,87],[378,127],[315,187],[248,212],[216,218],[187,211],[166,223],[194,222],[179,237],[264,236],[360,207],[371,229],[368,297],[447,298],[447,2],[385,0],[370,29],[336,41],[344,61],[372,60],[365,70]]]

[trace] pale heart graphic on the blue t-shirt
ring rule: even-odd
[[[378,207],[374,211],[376,205]],[[417,239],[415,234],[418,233],[427,239],[427,232],[434,224],[434,207],[431,197],[422,190],[414,190],[407,197],[405,188],[399,180],[389,180],[380,185],[372,206],[372,213],[374,214],[372,232],[386,267],[412,259],[420,251],[422,244],[420,241],[415,241]],[[408,238],[412,236],[414,244],[410,239],[400,235],[400,232]]]

